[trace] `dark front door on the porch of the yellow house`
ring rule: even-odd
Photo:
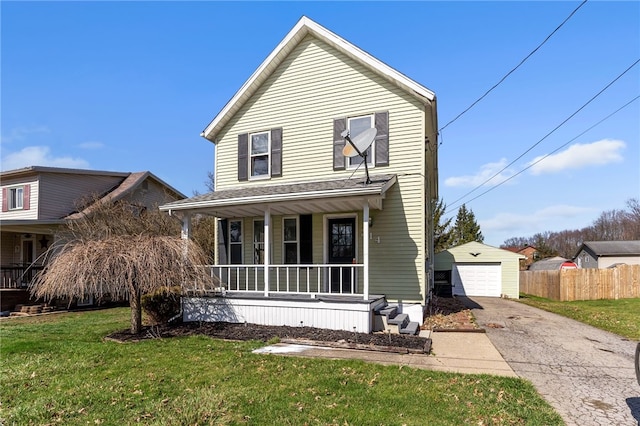
[[[329,219],[328,263],[351,265],[356,263],[356,219]],[[332,293],[355,292],[355,270],[351,267],[331,268],[329,284]],[[353,288],[352,288],[353,284]]]

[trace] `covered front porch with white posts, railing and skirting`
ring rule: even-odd
[[[371,212],[395,175],[247,186],[166,204],[189,238],[195,215],[217,220],[213,292],[183,298],[185,321],[230,321],[371,332]]]

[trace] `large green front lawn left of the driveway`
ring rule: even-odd
[[[126,308],[0,322],[0,424],[562,424],[524,380],[256,355],[197,336],[120,344]]]

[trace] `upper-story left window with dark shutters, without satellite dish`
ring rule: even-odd
[[[238,180],[282,176],[282,128],[238,135]]]

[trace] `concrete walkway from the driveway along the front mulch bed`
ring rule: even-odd
[[[429,337],[428,333],[421,335]],[[430,337],[432,342],[431,355],[336,349],[286,343],[266,346],[255,352],[313,358],[360,359],[384,365],[404,365],[453,373],[517,377],[484,333],[441,332],[432,333]]]

